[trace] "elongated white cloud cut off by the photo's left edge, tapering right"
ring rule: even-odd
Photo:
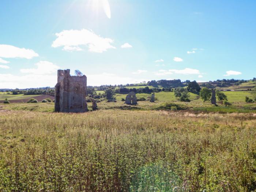
[[[37,57],[38,54],[32,49],[18,48],[12,45],[0,45],[0,57],[4,58],[26,58],[31,59]]]

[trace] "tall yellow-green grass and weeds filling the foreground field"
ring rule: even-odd
[[[256,116],[0,110],[0,191],[253,191]]]

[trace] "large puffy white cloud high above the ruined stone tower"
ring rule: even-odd
[[[80,50],[79,46],[87,46],[90,52],[102,53],[108,49],[116,49],[113,40],[103,38],[91,30],[63,30],[56,33],[57,39],[53,41],[52,47],[64,46],[64,50]]]

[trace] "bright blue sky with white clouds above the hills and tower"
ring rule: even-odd
[[[1,0],[0,88],[252,79],[256,1]]]

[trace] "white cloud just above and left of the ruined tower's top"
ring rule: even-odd
[[[20,72],[35,74],[35,75],[45,75],[45,74],[52,74],[56,72],[57,69],[59,69],[57,65],[54,65],[49,61],[39,61],[35,65],[37,66],[37,68],[20,69]]]

